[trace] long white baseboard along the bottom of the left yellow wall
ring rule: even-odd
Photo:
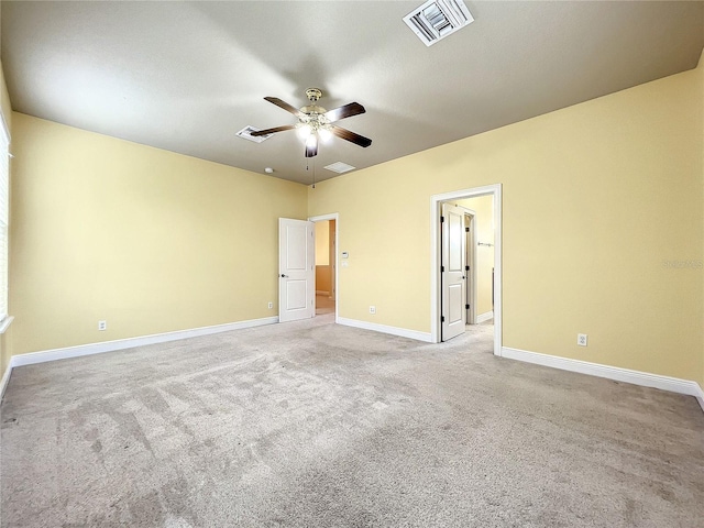
[[[105,341],[102,343],[80,344],[77,346],[67,346],[64,349],[44,350],[41,352],[30,352],[26,354],[13,355],[10,359],[12,369],[15,366],[33,365],[35,363],[44,363],[46,361],[66,360],[69,358],[78,358],[81,355],[100,354],[103,352],[114,352],[118,350],[132,349],[134,346],[144,346],[146,344],[165,343],[168,341],[177,341],[179,339],[197,338],[199,336],[209,336],[212,333],[229,332],[230,330],[240,330],[243,328],[261,327],[263,324],[272,324],[278,322],[278,317],[265,317],[262,319],[252,319],[249,321],[228,322],[226,324],[216,324],[212,327],[193,328],[189,330],[177,330],[175,332],[156,333],[153,336],[143,336],[140,338],[119,339],[116,341]]]

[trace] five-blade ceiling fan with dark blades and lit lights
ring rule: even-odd
[[[287,112],[296,116],[298,118],[298,122],[296,124],[285,124],[273,129],[260,130],[252,132],[251,135],[268,135],[276,132],[283,132],[285,130],[298,130],[299,135],[301,135],[306,141],[306,157],[312,157],[318,154],[318,140],[327,140],[332,135],[337,135],[338,138],[342,138],[343,140],[363,147],[367,147],[372,144],[372,140],[369,138],[364,138],[363,135],[356,134],[350,130],[332,124],[341,119],[366,112],[362,105],[359,102],[350,102],[336,108],[334,110],[326,110],[318,106],[318,100],[322,97],[322,91],[320,89],[308,88],[306,90],[306,96],[308,97],[310,105],[301,107],[300,110],[276,97],[265,97],[264,99],[268,102],[273,102],[277,107],[280,107]]]

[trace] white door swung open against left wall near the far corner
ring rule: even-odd
[[[278,321],[316,315],[316,240],[314,223],[278,219]]]

